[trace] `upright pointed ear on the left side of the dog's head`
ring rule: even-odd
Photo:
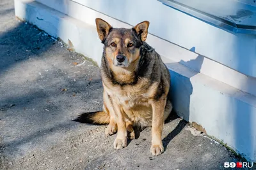
[[[108,36],[109,30],[112,29],[112,27],[111,25],[108,24],[108,22],[100,18],[96,18],[95,22],[96,22],[99,38],[103,43],[104,40],[106,39],[106,36]]]

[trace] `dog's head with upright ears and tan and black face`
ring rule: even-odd
[[[100,18],[95,21],[109,64],[115,67],[129,67],[140,58],[140,47],[147,39],[148,21],[141,22],[132,29],[113,28]]]

